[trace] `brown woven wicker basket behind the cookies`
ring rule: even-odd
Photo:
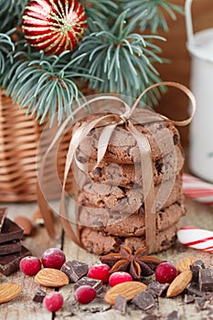
[[[0,202],[37,200],[37,144],[45,124],[39,125],[10,98],[0,95]],[[58,173],[62,178],[70,134],[59,145]],[[39,164],[38,164],[39,165]]]

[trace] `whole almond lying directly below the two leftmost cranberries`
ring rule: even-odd
[[[58,269],[44,268],[37,272],[35,283],[46,287],[62,287],[69,284],[69,277]]]

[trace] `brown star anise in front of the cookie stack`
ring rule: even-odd
[[[122,246],[119,253],[109,253],[100,257],[102,263],[108,264],[112,272],[129,272],[133,280],[140,280],[141,276],[154,273],[158,264],[164,262],[161,259],[146,254],[146,248],[133,252],[130,248]]]

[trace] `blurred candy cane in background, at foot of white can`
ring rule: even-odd
[[[213,206],[213,185],[188,174],[183,175],[183,189],[186,197]]]

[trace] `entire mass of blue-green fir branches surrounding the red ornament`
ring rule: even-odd
[[[0,85],[41,122],[47,115],[53,120],[58,111],[59,123],[72,114],[72,101],[82,97],[80,80],[97,91],[133,97],[160,81],[156,66],[164,61],[154,39],[164,38],[155,34],[167,28],[165,12],[176,18],[178,5],[165,0],[80,0],[88,20],[86,36],[75,51],[57,57],[23,40],[20,27],[28,2],[0,0]],[[15,33],[11,29],[16,26]],[[137,33],[138,26],[150,27],[151,34]],[[156,103],[159,91],[149,98]]]

